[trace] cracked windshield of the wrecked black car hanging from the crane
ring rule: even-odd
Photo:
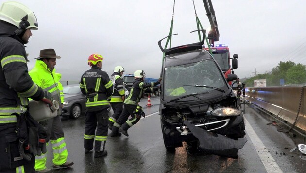
[[[213,97],[227,90],[222,73],[212,59],[165,68],[164,88],[167,101],[188,95],[191,97],[180,100]]]

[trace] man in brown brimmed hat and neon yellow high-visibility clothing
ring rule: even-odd
[[[54,49],[40,50],[35,66],[29,71],[32,80],[43,90],[49,91],[54,100],[60,104],[57,110],[57,116],[48,120],[48,137],[51,140],[53,148],[53,169],[68,168],[73,162],[67,162],[68,151],[66,148],[64,131],[61,122],[62,103],[64,102],[63,86],[60,83],[61,74],[55,72],[56,60],[61,58],[57,56]],[[47,153],[36,156],[35,170],[36,173],[50,173],[51,169],[46,167]]]

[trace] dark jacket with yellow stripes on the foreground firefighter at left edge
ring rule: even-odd
[[[28,74],[27,53],[22,40],[14,34],[17,27],[1,20],[0,26],[0,126],[2,126],[3,123],[16,122],[15,115],[20,114],[20,106],[28,105],[28,98],[42,99],[44,91]]]

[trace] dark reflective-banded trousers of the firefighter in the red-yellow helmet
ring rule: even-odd
[[[97,128],[96,136],[105,136],[107,137],[108,132],[108,112],[107,108],[102,109],[101,111],[95,112],[86,112],[85,115],[85,134],[95,135],[95,130]],[[106,141],[106,139],[105,139]],[[84,148],[91,150],[93,149],[94,138],[84,139]],[[100,151],[101,140],[95,141],[95,151]]]

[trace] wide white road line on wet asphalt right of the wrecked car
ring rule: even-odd
[[[260,138],[257,136],[256,132],[250,125],[249,121],[244,118],[245,121],[245,129],[248,133],[262,163],[264,164],[268,173],[283,173],[283,171],[279,168],[276,161],[273,159],[272,155],[268,152],[265,145],[262,143]],[[259,152],[260,151],[260,152]]]

